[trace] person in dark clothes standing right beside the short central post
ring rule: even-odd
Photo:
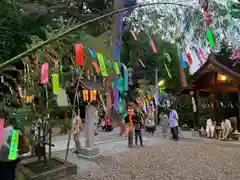
[[[133,122],[134,122],[134,132],[135,132],[135,145],[137,146],[138,144],[138,137],[140,140],[140,145],[143,146],[143,140],[142,140],[142,128],[143,128],[143,123],[141,121],[141,117],[139,115],[133,116]]]

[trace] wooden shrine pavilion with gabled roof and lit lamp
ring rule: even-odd
[[[199,122],[199,96],[209,96],[212,120],[215,117],[215,95],[220,93],[234,94],[238,99],[237,126],[240,127],[240,58],[231,58],[223,54],[211,53],[206,62],[190,78],[188,87],[182,93],[189,93],[195,100],[194,128]]]

